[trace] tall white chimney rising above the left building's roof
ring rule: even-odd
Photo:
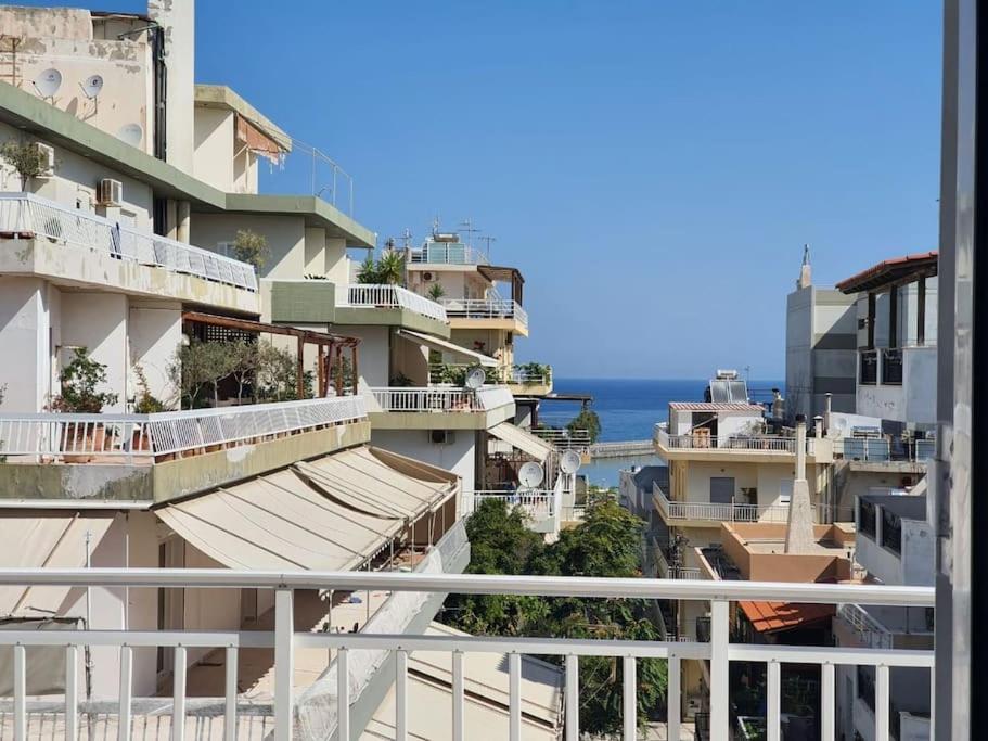
[[[147,0],[165,37],[165,162],[192,174],[195,141],[195,0]]]

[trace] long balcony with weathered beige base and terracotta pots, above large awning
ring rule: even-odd
[[[163,501],[369,438],[361,396],[156,414],[0,414],[0,490]]]

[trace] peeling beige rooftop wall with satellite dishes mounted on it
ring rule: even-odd
[[[106,25],[98,21],[94,33],[93,20],[86,10],[0,7],[4,36],[21,39],[16,60],[3,44],[0,81],[36,95],[33,82],[42,72],[55,68],[62,73],[62,85],[49,99],[52,105],[113,136],[124,126],[138,124],[143,130],[139,148],[151,153],[154,111],[147,35],[117,37],[121,30],[146,26],[146,22],[118,21],[112,29]],[[90,75],[103,78],[95,101],[80,88]]]

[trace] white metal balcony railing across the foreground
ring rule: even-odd
[[[681,663],[703,661],[709,674],[709,720],[714,741],[730,738],[730,663],[758,662],[767,664],[767,730],[768,738],[781,738],[782,667],[788,664],[820,667],[822,739],[834,739],[835,732],[835,666],[874,667],[875,672],[875,738],[888,738],[890,727],[889,672],[893,667],[933,669],[934,654],[924,650],[878,650],[833,647],[760,646],[733,642],[730,639],[730,603],[739,600],[838,604],[854,602],[869,605],[916,605],[931,608],[934,590],[928,587],[889,587],[875,585],[781,584],[767,582],[694,582],[666,579],[607,579],[544,576],[484,576],[451,574],[395,573],[258,573],[227,570],[0,570],[0,585],[5,586],[69,586],[76,588],[185,588],[185,589],[259,589],[274,592],[274,624],[270,630],[2,630],[0,646],[9,647],[13,655],[13,697],[8,711],[13,715],[14,738],[27,736],[28,650],[34,647],[63,649],[67,662],[64,695],[48,703],[47,717],[51,723],[61,715],[65,736],[77,738],[80,726],[79,661],[82,647],[99,646],[116,649],[119,656],[119,695],[115,700],[119,738],[130,738],[133,727],[134,649],[166,647],[172,649],[174,681],[170,707],[158,707],[158,724],[174,729],[171,738],[185,738],[185,729],[195,723],[189,712],[187,697],[187,651],[192,649],[223,649],[228,667],[226,694],[219,700],[218,717],[223,718],[227,733],[242,719],[245,707],[238,701],[235,667],[241,649],[264,648],[274,651],[273,716],[278,741],[290,741],[295,734],[296,692],[293,687],[293,657],[296,649],[335,650],[335,666],[328,669],[336,677],[331,718],[336,738],[351,738],[359,731],[352,725],[350,662],[360,662],[362,652],[386,652],[395,656],[396,738],[408,738],[409,715],[421,711],[411,707],[409,700],[408,657],[410,652],[448,652],[452,656],[451,737],[457,740],[478,738],[485,729],[466,725],[464,712],[463,655],[471,652],[493,652],[508,655],[509,734],[511,741],[522,739],[522,656],[556,656],[565,665],[566,739],[579,738],[580,657],[620,657],[623,739],[632,741],[638,733],[637,662],[639,659],[668,661],[667,734],[680,738]],[[547,597],[587,597],[602,599],[702,600],[710,603],[709,641],[627,641],[608,639],[570,639],[564,637],[474,637],[458,635],[419,636],[388,634],[296,633],[294,625],[295,597],[298,589],[338,591],[405,591],[462,595],[538,595]],[[106,655],[105,649],[102,655]],[[229,667],[234,667],[230,673]],[[229,678],[233,680],[230,681]],[[935,682],[931,681],[935,688]],[[935,690],[932,690],[935,691]],[[57,697],[64,697],[57,702]],[[52,704],[55,704],[55,708]],[[323,713],[329,708],[323,707]],[[164,723],[163,723],[164,721]],[[167,734],[168,729],[164,732]],[[167,736],[163,738],[168,738]]]

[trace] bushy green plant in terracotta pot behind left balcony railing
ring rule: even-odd
[[[73,359],[59,374],[62,393],[52,398],[52,411],[68,414],[99,414],[106,405],[116,404],[119,395],[99,392],[97,387],[106,383],[106,366],[94,360],[86,347],[76,347]],[[69,422],[66,425],[67,439],[86,455],[66,456],[66,462],[85,463],[92,459],[92,452],[103,450],[105,430],[99,422]],[[81,439],[80,439],[81,437]]]

